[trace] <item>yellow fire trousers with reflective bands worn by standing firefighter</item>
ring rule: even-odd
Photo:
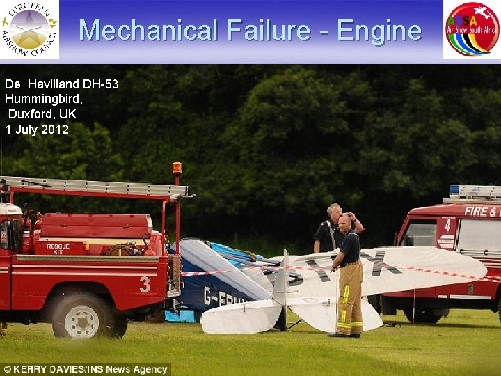
[[[339,269],[340,297],[337,301],[337,333],[362,333],[363,266],[357,263]]]

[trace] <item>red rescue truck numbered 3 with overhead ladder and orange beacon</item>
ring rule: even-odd
[[[168,308],[180,295],[180,199],[175,184],[1,177],[0,322],[49,322],[57,337],[121,338],[134,315]],[[17,193],[161,201],[149,214],[42,214],[13,204]],[[175,212],[175,255],[165,252],[166,211]]]

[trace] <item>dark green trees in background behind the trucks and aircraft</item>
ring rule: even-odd
[[[3,65],[0,76],[118,79],[119,87],[43,91],[80,95],[64,136],[6,134],[8,123],[26,123],[9,119],[19,105],[6,104],[3,175],[170,184],[179,160],[183,184],[198,195],[182,203],[184,236],[267,255],[311,253],[335,201],[363,221],[363,246],[389,245],[406,212],[440,203],[450,184],[501,182],[500,65],[25,68]],[[144,201],[29,200],[46,212],[160,220],[159,205]]]

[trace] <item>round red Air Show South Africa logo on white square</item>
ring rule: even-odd
[[[500,59],[501,46],[498,43],[500,23],[500,1],[463,3],[444,0],[445,38],[443,58],[445,59]]]

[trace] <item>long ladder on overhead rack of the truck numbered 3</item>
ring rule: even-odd
[[[131,182],[100,182],[91,180],[63,180],[1,176],[1,193],[42,193],[115,198],[144,198],[175,201],[191,197],[186,185],[153,185]]]

